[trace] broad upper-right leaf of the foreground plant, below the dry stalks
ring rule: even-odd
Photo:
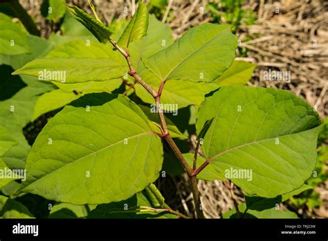
[[[202,24],[178,41],[145,60],[147,69],[160,80],[212,82],[235,58],[237,37],[231,26]]]

